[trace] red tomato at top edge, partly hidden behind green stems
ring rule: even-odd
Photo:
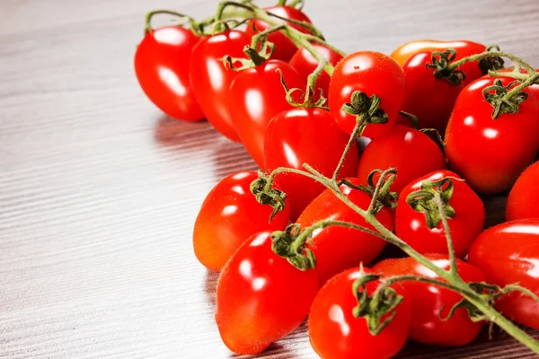
[[[307,17],[307,15],[305,15],[305,13],[291,6],[286,6],[286,5],[270,6],[270,7],[265,7],[264,10],[266,10],[269,13],[274,13],[278,16],[281,16],[287,19],[296,20],[299,22],[307,22],[309,24],[312,23],[311,20]],[[281,22],[277,18],[275,18],[275,20],[278,22]],[[282,23],[290,25],[297,31],[301,31],[303,33],[310,32],[307,28],[300,25],[296,25],[291,22],[282,21]],[[253,29],[253,25],[254,25],[254,29]],[[247,31],[251,35],[254,35],[257,32],[265,31],[270,28],[271,26],[266,22],[262,22],[261,20],[250,20],[249,22],[247,22],[247,28],[245,31]],[[270,33],[270,35],[268,35],[268,40],[275,45],[275,49],[273,50],[273,54],[271,55],[271,58],[274,58],[277,60],[288,61],[296,53],[297,48],[296,48],[296,45],[294,45],[294,42],[292,42],[292,40],[288,39],[286,35],[284,35],[283,33],[279,31]]]

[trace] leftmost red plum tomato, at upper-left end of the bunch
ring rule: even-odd
[[[172,118],[204,118],[189,82],[191,51],[199,42],[190,30],[167,26],[146,32],[135,53],[135,72],[150,101]]]

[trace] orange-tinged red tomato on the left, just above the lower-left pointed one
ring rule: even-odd
[[[254,171],[235,172],[217,183],[202,203],[195,221],[193,246],[205,267],[221,270],[252,234],[287,227],[288,201],[270,223],[271,207],[258,203],[249,188],[256,179]]]

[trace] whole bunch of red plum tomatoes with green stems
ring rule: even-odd
[[[188,27],[150,13],[135,57],[159,109],[208,119],[261,168],[221,180],[194,226],[225,345],[260,353],[308,317],[321,357],[388,358],[491,320],[537,352],[505,319],[539,329],[535,69],[468,40],[345,56],[296,3],[226,2]],[[483,232],[479,195],[508,190],[508,222]],[[387,241],[409,256],[379,260]]]

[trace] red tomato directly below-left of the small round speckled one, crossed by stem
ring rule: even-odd
[[[349,136],[340,131],[328,111],[288,109],[273,118],[266,129],[265,168],[303,170],[303,164],[309,163],[316,171],[331,177],[348,141]],[[340,178],[354,176],[358,162],[358,148],[352,144]],[[276,182],[287,193],[292,221],[324,190],[320,183],[295,173],[280,173]]]

